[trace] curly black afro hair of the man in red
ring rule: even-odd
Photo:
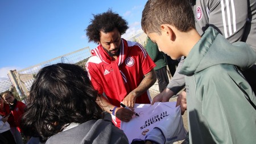
[[[94,19],[90,19],[91,24],[85,29],[89,42],[98,43],[100,41],[100,31],[107,33],[117,28],[120,35],[123,35],[129,28],[127,21],[122,16],[112,12],[111,9],[102,14],[93,14],[93,17]]]

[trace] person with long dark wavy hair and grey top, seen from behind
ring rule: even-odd
[[[22,118],[24,133],[40,135],[46,143],[128,143],[122,130],[101,119],[104,113],[96,98],[97,91],[80,66],[43,67],[30,90]]]

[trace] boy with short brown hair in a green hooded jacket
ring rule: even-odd
[[[187,0],[149,0],[141,23],[160,51],[186,57],[189,143],[255,143],[255,94],[240,72],[256,62],[254,50],[213,27],[200,36]]]

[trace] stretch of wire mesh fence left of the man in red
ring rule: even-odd
[[[0,82],[0,93],[9,90],[9,88],[11,86],[15,86],[16,83],[16,85],[20,88],[20,91],[23,93],[22,95],[28,96],[28,92],[30,91],[32,83],[34,82],[35,75],[43,67],[56,63],[73,63],[85,69],[85,63],[90,56],[90,48],[86,47],[76,50],[75,52],[53,58],[52,60],[39,63],[38,65],[27,67],[26,69],[19,71],[10,70],[8,74],[10,80]],[[13,77],[10,77],[10,75],[13,75]]]

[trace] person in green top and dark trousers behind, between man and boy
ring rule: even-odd
[[[155,62],[156,66],[154,67],[154,70],[156,79],[158,79],[159,91],[162,92],[169,83],[166,54],[159,52],[158,45],[153,43],[149,38],[147,38],[146,50],[148,55]]]

